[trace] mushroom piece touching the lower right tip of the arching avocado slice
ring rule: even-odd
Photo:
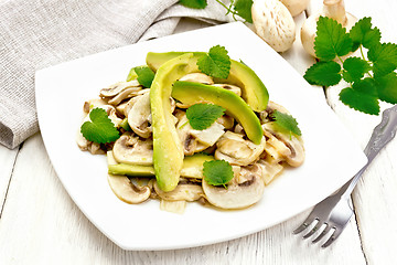
[[[259,145],[245,140],[244,135],[226,131],[216,142],[215,159],[228,161],[230,165],[247,166],[259,159],[266,145],[262,137]]]

